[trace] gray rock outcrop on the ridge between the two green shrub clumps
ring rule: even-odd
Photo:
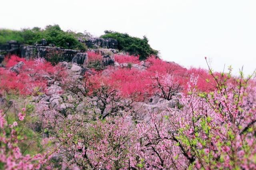
[[[87,41],[85,41],[85,44],[89,48],[97,48],[97,47],[106,48],[106,49],[118,48],[117,40],[112,38],[103,39],[103,38],[92,37],[92,38],[89,38]]]

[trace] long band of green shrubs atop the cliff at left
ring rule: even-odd
[[[40,43],[41,39],[44,38],[47,43],[55,44],[57,47],[86,50],[86,46],[77,39],[81,34],[83,33],[63,31],[60,29],[59,25],[47,25],[45,29],[34,27],[32,29],[22,29],[20,31],[0,29],[0,44],[15,40],[19,43],[34,45],[34,43]]]

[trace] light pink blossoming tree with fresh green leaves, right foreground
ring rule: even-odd
[[[179,116],[169,119],[190,168],[255,169],[255,80],[232,78],[231,70],[217,76],[216,90],[199,93],[193,74]],[[248,92],[253,92],[248,94]]]

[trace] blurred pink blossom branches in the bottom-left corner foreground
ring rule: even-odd
[[[0,110],[0,168],[6,170],[32,170],[39,168],[50,169],[50,150],[44,154],[24,155],[26,148],[22,147],[28,138],[24,135],[24,119],[26,109],[18,113],[11,122],[7,111]],[[47,166],[48,165],[48,166]]]

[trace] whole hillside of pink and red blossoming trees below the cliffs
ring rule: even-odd
[[[256,169],[254,73],[87,54],[5,57],[1,169]]]

